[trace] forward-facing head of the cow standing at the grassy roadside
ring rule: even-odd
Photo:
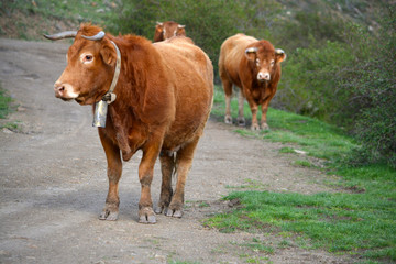
[[[258,81],[270,81],[278,64],[286,59],[286,53],[274,48],[268,41],[258,41],[248,46],[245,56]]]

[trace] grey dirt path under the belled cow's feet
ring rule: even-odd
[[[201,226],[227,207],[220,198],[254,183],[261,189],[310,194],[329,190],[319,172],[290,165],[280,144],[244,139],[234,128],[209,121],[186,186],[184,218],[136,222],[138,153],[124,164],[120,218],[98,220],[107,195],[106,158],[90,107],[63,102],[53,84],[65,67],[69,44],[0,38],[0,79],[20,105],[9,120],[19,131],[0,131],[0,263],[348,263],[323,251],[279,248],[280,238],[220,233]],[[160,190],[155,168],[153,200]],[[202,202],[208,207],[200,207]],[[275,253],[242,243],[258,238]]]

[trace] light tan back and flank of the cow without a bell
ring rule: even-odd
[[[239,33],[227,38],[220,48],[219,72],[220,76],[228,76],[232,82],[241,87],[239,70],[241,61],[245,56],[245,48],[249,44],[257,42],[253,36]]]

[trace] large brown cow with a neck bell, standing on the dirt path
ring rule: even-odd
[[[129,161],[138,150],[143,151],[139,221],[156,222],[151,183],[158,156],[163,178],[156,212],[182,217],[186,177],[212,105],[213,68],[209,57],[183,38],[152,44],[135,35],[114,37],[90,24],[81,24],[78,32],[47,37],[65,36],[75,40],[67,53],[67,66],[54,85],[56,97],[80,105],[103,103],[112,97],[105,95],[120,70],[113,92],[110,88],[117,99],[109,101],[106,128],[98,129],[109,177],[100,219],[117,220],[121,156]],[[176,173],[174,191],[172,176]]]

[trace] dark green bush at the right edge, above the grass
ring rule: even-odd
[[[354,134],[362,142],[361,163],[386,161],[396,168],[396,9],[385,13],[372,57],[345,77],[353,84],[350,98],[356,110]]]

